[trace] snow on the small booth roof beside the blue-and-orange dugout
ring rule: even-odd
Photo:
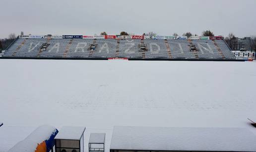
[[[65,126],[59,130],[55,139],[80,140],[85,127],[69,127]]]

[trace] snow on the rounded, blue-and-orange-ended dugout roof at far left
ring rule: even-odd
[[[14,145],[8,152],[34,152],[38,144],[49,139],[56,131],[55,127],[43,125],[33,131],[27,138]]]

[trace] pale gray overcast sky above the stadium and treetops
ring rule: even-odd
[[[256,35],[256,0],[0,0],[0,38],[33,35]]]

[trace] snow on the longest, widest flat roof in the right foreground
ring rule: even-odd
[[[113,130],[111,150],[255,152],[256,136],[244,128],[123,127]]]

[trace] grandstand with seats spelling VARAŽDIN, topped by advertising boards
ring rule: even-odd
[[[3,58],[235,60],[222,37],[21,35]]]

